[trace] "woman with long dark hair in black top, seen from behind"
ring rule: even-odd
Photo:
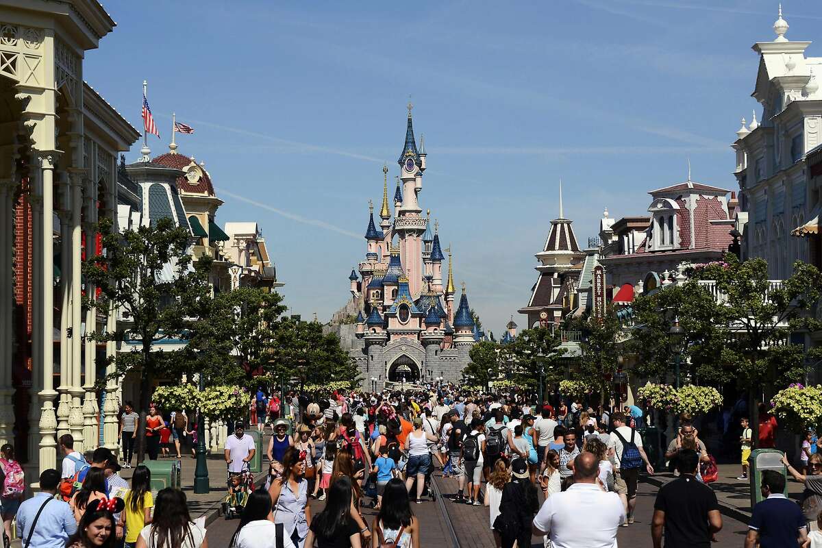
[[[328,489],[326,508],[312,519],[306,546],[360,548],[360,527],[351,518],[351,479],[338,477]]]

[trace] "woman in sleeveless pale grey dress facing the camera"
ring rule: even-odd
[[[308,506],[308,482],[305,474],[306,455],[289,447],[283,454],[283,472],[271,481],[269,495],[275,504],[275,523],[282,523],[286,536],[294,546],[302,548],[311,525]]]

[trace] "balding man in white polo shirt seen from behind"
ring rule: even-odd
[[[575,483],[545,500],[533,518],[533,534],[549,536],[554,548],[613,548],[625,509],[616,493],[599,488],[598,473],[596,455],[577,455]]]

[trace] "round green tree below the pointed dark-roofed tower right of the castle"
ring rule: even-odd
[[[562,380],[565,377],[565,367],[561,364],[561,357],[566,353],[566,349],[560,348],[561,343],[559,329],[524,329],[514,342],[508,345],[513,357],[511,380],[520,385],[538,387],[540,369],[543,370],[544,383],[550,385]]]

